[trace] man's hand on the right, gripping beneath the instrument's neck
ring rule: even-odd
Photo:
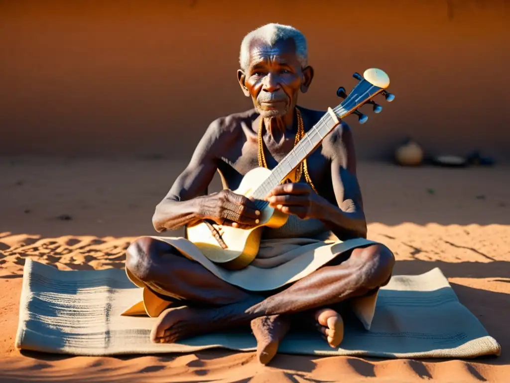
[[[319,196],[308,183],[284,183],[276,186],[266,196],[269,206],[303,220],[316,218]]]

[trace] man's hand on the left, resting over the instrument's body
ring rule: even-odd
[[[201,212],[204,219],[240,229],[257,226],[260,218],[260,211],[252,200],[230,189],[203,198]]]

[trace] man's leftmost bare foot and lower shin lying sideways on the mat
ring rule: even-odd
[[[254,297],[214,308],[167,308],[152,327],[150,339],[154,343],[174,343],[181,339],[248,324],[256,316],[246,314],[246,310],[260,301],[261,298]]]

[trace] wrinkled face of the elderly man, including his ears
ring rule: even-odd
[[[301,68],[294,40],[277,41],[273,46],[253,40],[249,64],[244,73],[239,71],[239,82],[262,116],[284,116],[296,105],[299,90],[307,90],[308,68]]]

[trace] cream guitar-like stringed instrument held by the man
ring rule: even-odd
[[[349,114],[358,115],[359,122],[364,124],[368,117],[358,108],[365,104],[373,106],[373,111],[379,113],[382,107],[372,99],[382,93],[386,101],[391,102],[394,95],[385,89],[390,84],[390,78],[384,71],[376,68],[365,70],[363,77],[358,73],[352,75],[359,83],[347,95],[343,87],[338,88],[337,95],[344,101],[327,112],[311,128],[297,145],[272,170],[257,167],[246,173],[239,187],[234,193],[253,197],[260,211],[259,225],[250,229],[238,229],[216,223],[201,222],[187,227],[187,238],[195,244],[208,259],[230,270],[239,270],[248,266],[257,256],[264,227],[278,228],[283,226],[288,215],[269,206],[263,199],[278,184],[284,182],[287,176],[307,158],[321,143],[321,141],[337,125],[340,119]]]

